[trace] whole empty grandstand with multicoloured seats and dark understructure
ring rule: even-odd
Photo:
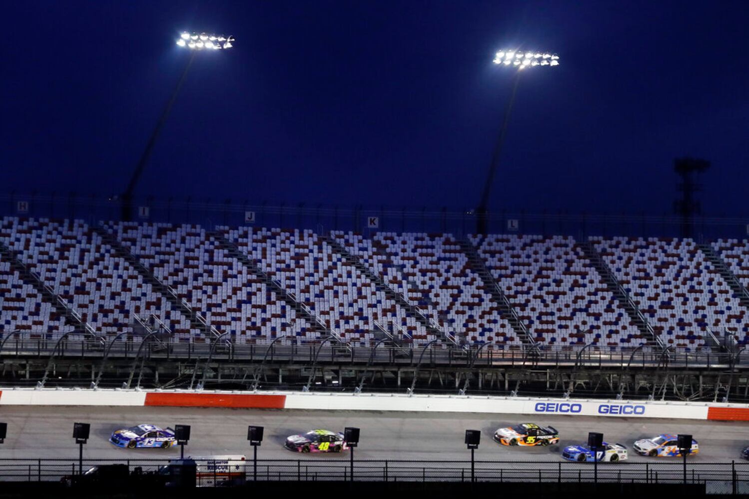
[[[6,216],[0,355],[30,383],[743,398],[745,245]]]

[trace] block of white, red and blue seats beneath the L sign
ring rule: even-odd
[[[645,343],[598,272],[563,236],[470,236],[530,334],[548,346]]]

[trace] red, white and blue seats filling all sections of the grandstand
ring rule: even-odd
[[[105,230],[119,244],[102,239]],[[14,217],[0,224],[0,242],[107,337],[127,331],[135,315],[155,314],[175,341],[208,340],[183,313],[186,307],[154,290],[150,272],[238,344],[287,336],[318,342],[330,329],[352,345],[372,345],[387,333],[415,345],[440,340],[446,346],[452,338],[519,347],[524,338],[500,313],[494,289],[486,288],[485,266],[530,336],[545,346],[632,349],[647,340],[571,237],[469,236],[476,253],[444,233],[367,238],[334,231],[330,237],[336,244],[310,230],[89,227]],[[667,345],[700,349],[709,345],[710,332],[723,331],[749,343],[745,307],[691,239],[593,237],[586,251],[589,245]],[[720,239],[712,248],[748,286],[749,242]],[[129,263],[123,249],[148,270]],[[54,338],[73,331],[60,305],[23,275],[26,280],[0,259],[0,335],[21,330]]]

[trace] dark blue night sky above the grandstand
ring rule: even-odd
[[[709,213],[749,182],[749,2],[34,1],[2,8],[3,192],[119,192],[198,54],[140,194],[475,206],[524,73],[492,209],[670,211],[672,160],[712,161]],[[9,33],[8,33],[9,31]]]

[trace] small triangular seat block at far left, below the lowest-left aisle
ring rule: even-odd
[[[0,259],[0,340],[11,331],[24,331],[29,337],[48,337],[73,331],[54,304],[13,272],[10,262]]]

